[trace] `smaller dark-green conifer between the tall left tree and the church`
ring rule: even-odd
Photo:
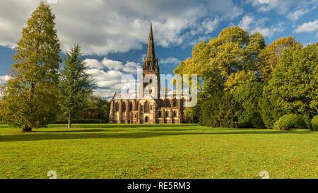
[[[86,73],[87,69],[81,59],[81,47],[71,47],[63,59],[59,81],[61,111],[69,119],[69,128],[72,118],[86,108],[88,97],[95,88],[91,75]]]

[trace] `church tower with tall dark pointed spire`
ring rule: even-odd
[[[151,95],[160,98],[160,69],[158,58],[155,57],[155,44],[153,42],[153,26],[149,33],[147,57],[143,62],[143,76],[141,79],[141,96]]]

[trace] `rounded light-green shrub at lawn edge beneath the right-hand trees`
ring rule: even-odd
[[[306,124],[304,118],[301,115],[284,115],[279,118],[275,124],[274,128],[276,130],[290,130],[290,129],[305,129]]]

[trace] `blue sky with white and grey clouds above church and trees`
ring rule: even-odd
[[[264,35],[266,45],[293,35],[318,40],[318,0],[45,0],[55,14],[62,55],[79,43],[95,94],[111,98],[124,74],[146,56],[150,23],[160,74],[172,74],[198,42],[238,25]],[[0,84],[13,64],[16,42],[40,0],[0,0]]]

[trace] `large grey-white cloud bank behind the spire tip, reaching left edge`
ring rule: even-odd
[[[0,1],[0,45],[14,47],[31,13],[40,0]],[[57,0],[51,4],[63,51],[80,43],[84,54],[105,55],[141,49],[148,41],[150,20],[156,45],[163,47],[191,42],[184,31],[211,33],[224,19],[242,14],[232,0]],[[205,20],[213,16],[214,19]],[[217,18],[217,19],[216,19]],[[201,21],[206,25],[201,26]]]

